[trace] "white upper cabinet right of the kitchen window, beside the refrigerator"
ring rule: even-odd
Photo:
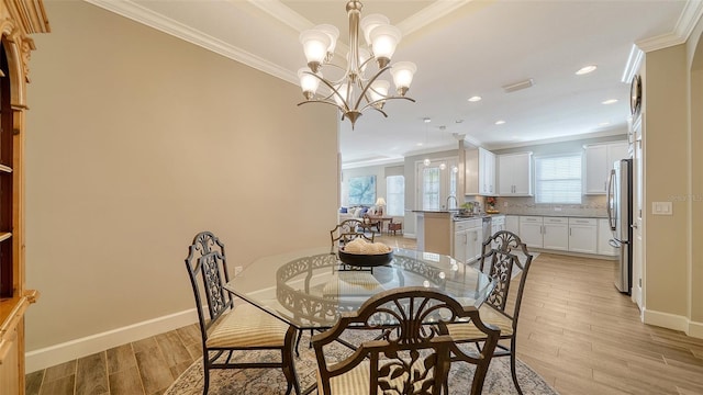
[[[607,177],[613,163],[618,159],[627,158],[627,142],[609,144],[594,144],[583,147],[585,150],[585,169],[583,183],[584,194],[605,194]]]

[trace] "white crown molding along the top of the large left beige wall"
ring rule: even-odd
[[[156,29],[166,34],[187,41],[202,48],[214,52],[232,60],[236,60],[257,70],[269,74],[291,83],[298,83],[294,72],[247,50],[230,45],[199,30],[166,18],[130,0],[83,0],[104,10],[114,12],[135,22]]]

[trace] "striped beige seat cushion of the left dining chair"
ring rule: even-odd
[[[208,347],[282,347],[288,324],[249,304],[238,304],[210,329]]]

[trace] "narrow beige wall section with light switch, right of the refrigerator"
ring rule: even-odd
[[[646,308],[688,316],[685,45],[647,53],[645,61]],[[673,215],[652,215],[652,202],[673,202]]]

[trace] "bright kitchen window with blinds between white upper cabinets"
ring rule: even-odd
[[[535,203],[581,204],[581,154],[535,158]]]

